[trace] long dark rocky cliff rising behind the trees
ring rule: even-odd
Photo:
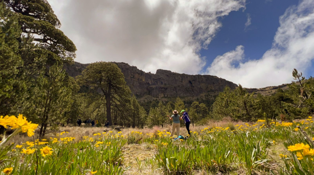
[[[124,74],[126,84],[138,98],[150,95],[155,98],[162,97],[191,97],[199,96],[205,92],[222,91],[229,86],[231,89],[236,84],[209,75],[189,75],[158,69],[156,73],[147,73],[135,66],[126,63],[115,63]],[[75,62],[65,65],[64,69],[70,76],[76,77],[88,66]]]

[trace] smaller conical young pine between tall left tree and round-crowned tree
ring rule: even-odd
[[[24,113],[41,124],[40,135],[46,133],[48,124],[65,122],[64,113],[70,110],[73,103],[72,93],[78,90],[72,78],[64,80],[66,76],[62,67],[55,64],[46,76],[38,77],[30,101],[24,104]]]

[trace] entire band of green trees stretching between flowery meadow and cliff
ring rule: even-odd
[[[41,136],[78,118],[124,127],[163,126],[174,109],[188,111],[193,123],[223,117],[295,119],[314,112],[313,79],[305,80],[296,69],[297,83],[273,95],[248,93],[239,85],[226,87],[214,103],[213,97],[207,104],[178,97],[153,101],[144,109],[114,63],[92,63],[80,76],[70,77],[63,64],[73,63],[76,46],[60,26],[47,1],[0,0],[0,114],[24,114],[39,124]]]

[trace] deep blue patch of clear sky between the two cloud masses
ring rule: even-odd
[[[297,0],[250,0],[246,1],[244,11],[233,11],[222,17],[222,27],[216,37],[208,45],[208,49],[200,51],[200,55],[207,59],[204,70],[218,55],[235,49],[237,45],[243,45],[245,48],[244,60],[260,59],[272,47],[279,27],[279,17],[289,6],[298,3]],[[251,25],[245,29],[248,14],[251,17]]]

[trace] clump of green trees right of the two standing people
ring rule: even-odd
[[[314,113],[314,79],[306,80],[302,73],[293,70],[297,82],[288,89],[278,89],[273,95],[263,96],[248,93],[241,85],[235,90],[226,87],[220,92],[212,106],[216,118],[231,117],[234,120],[251,121],[257,119],[292,120],[304,118]]]

